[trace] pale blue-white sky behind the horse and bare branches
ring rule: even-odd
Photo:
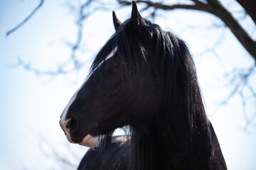
[[[85,67],[79,72],[52,77],[28,72],[16,67],[16,63],[21,58],[35,68],[50,70],[68,59],[70,48],[65,42],[75,42],[77,28],[63,1],[45,1],[31,20],[6,37],[6,32],[23,21],[38,3],[0,1],[0,169],[76,169],[87,148],[66,140],[58,125],[60,114],[85,80],[93,57],[114,33],[112,10],[120,21],[131,12],[130,6],[114,6],[93,13],[85,22],[82,50],[78,54],[87,61]],[[185,40],[191,50],[208,118],[228,169],[256,169],[256,129],[243,130],[245,118],[239,96],[231,98],[226,106],[218,104],[232,89],[223,75],[233,67],[250,67],[250,55],[229,30],[203,29],[212,23],[221,24],[213,16],[183,10],[159,11],[158,15],[154,22]],[[149,14],[142,12],[142,16]],[[244,22],[246,25],[247,21]],[[216,57],[206,49],[218,40],[221,44],[215,47]],[[252,78],[250,83],[256,84],[255,77]],[[250,103],[246,109],[249,113],[256,110]]]

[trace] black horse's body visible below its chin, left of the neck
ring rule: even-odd
[[[130,159],[130,140],[127,136],[114,136],[103,151],[90,148],[82,158],[78,170],[127,170]]]

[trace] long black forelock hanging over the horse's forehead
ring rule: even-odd
[[[130,74],[136,77],[139,73],[143,72],[146,67],[146,53],[142,40],[132,30],[129,20],[125,21],[121,28],[117,30],[114,35],[105,43],[100,52],[96,55],[95,60],[92,62],[91,71],[97,65],[104,62],[105,55],[108,54],[113,47],[117,47],[116,56],[119,57],[120,62],[125,63],[122,65],[124,74]]]

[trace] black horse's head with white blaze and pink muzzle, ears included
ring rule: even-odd
[[[134,1],[132,17],[121,23],[113,11],[113,22],[116,32],[60,116],[68,140],[87,147],[95,147],[99,135],[148,120],[164,97],[153,43],[158,26],[142,18]]]

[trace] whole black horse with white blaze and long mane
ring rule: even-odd
[[[140,16],[121,23],[70,99],[60,126],[92,147],[78,169],[227,169],[183,40]],[[117,128],[127,135],[112,136]]]

